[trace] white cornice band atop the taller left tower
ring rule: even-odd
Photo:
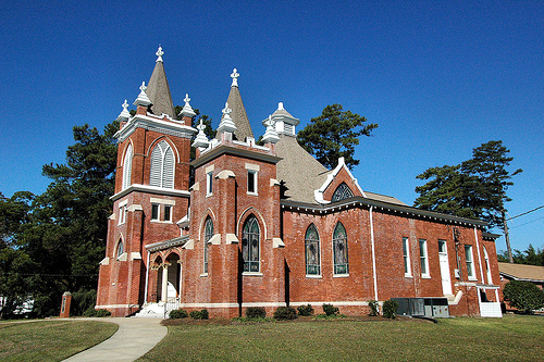
[[[136,114],[123,128],[118,130],[114,137],[118,139],[118,142],[122,142],[137,128],[154,130],[164,135],[188,139],[193,138],[193,135],[197,133],[195,128],[181,124],[178,121],[166,122],[147,115]]]

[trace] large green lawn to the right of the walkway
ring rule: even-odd
[[[544,317],[169,325],[139,361],[543,361]]]

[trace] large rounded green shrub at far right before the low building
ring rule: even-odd
[[[531,282],[510,280],[504,289],[503,295],[510,305],[522,313],[544,307],[544,291]]]

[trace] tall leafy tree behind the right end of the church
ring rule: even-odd
[[[481,219],[494,226],[503,226],[505,202],[511,201],[506,195],[512,176],[506,167],[514,158],[502,141],[489,141],[473,149],[472,159],[459,165],[431,167],[417,178],[428,180],[418,186],[420,196],[415,207],[452,215]]]

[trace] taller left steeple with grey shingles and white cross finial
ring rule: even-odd
[[[165,113],[173,120],[176,120],[174,103],[172,102],[172,95],[170,93],[169,82],[166,79],[164,63],[162,61],[164,52],[161,47],[159,47],[156,55],[158,58],[154,64],[154,70],[151,74],[151,78],[149,78],[149,84],[147,85],[146,90],[147,96],[152,102],[151,111],[153,111],[157,115]]]

